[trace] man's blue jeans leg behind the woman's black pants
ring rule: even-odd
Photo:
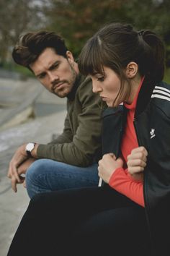
[[[97,187],[97,163],[88,167],[71,166],[50,159],[39,159],[27,169],[26,184],[30,198],[40,192],[79,187]]]

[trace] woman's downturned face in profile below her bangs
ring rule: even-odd
[[[118,106],[120,103],[125,101],[126,93],[122,93],[121,98],[117,98],[120,92],[121,81],[117,74],[109,67],[104,67],[104,74],[91,75],[93,92],[99,93],[102,101],[107,103],[107,106]],[[115,99],[117,100],[115,101]]]

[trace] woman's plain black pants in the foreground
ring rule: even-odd
[[[41,193],[30,205],[8,256],[148,256],[145,210],[114,189]]]

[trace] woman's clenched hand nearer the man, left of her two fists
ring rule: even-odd
[[[117,168],[123,166],[122,158],[117,158],[113,153],[103,155],[102,159],[99,161],[99,177],[104,180],[104,182],[109,183],[109,179]]]

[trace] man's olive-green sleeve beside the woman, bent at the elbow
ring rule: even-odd
[[[79,127],[73,140],[68,136],[71,140],[69,142],[39,145],[38,158],[50,158],[74,166],[89,166],[93,163],[94,155],[101,147],[101,99],[99,95],[92,93],[91,82],[84,82],[84,86],[78,90],[77,100],[81,103],[81,114],[78,116]]]

